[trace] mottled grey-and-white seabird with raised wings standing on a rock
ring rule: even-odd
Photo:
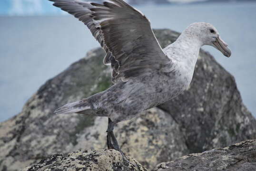
[[[123,152],[114,126],[140,112],[165,103],[183,92],[192,80],[200,47],[217,48],[231,56],[217,29],[205,22],[188,26],[177,40],[162,49],[145,15],[123,0],[103,4],[80,0],[50,0],[82,21],[105,50],[105,65],[112,68],[107,90],[66,104],[56,114],[92,114],[108,117],[109,149]],[[127,160],[126,160],[127,161]]]

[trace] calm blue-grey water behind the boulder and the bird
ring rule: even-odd
[[[235,76],[244,103],[256,115],[256,3],[137,8],[153,28],[182,31],[198,21],[216,26],[232,57],[204,49]],[[0,40],[0,121],[18,114],[40,85],[99,46],[72,16],[0,17]]]

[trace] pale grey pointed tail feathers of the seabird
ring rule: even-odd
[[[94,110],[91,108],[87,99],[77,102],[65,104],[64,106],[56,109],[55,114],[94,114]]]

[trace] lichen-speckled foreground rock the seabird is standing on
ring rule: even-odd
[[[135,159],[123,161],[116,150],[78,150],[67,156],[52,155],[21,171],[148,171]]]

